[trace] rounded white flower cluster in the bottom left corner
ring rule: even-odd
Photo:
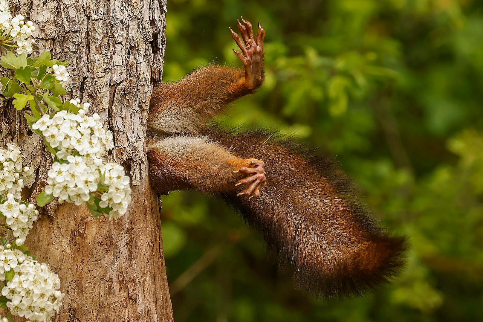
[[[1,294],[10,301],[7,307],[12,315],[28,321],[52,321],[62,305],[60,279],[47,264],[38,263],[18,249],[0,246],[0,280],[5,283]],[[14,271],[7,281],[6,272]]]

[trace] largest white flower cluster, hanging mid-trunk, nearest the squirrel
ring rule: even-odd
[[[78,114],[62,110],[52,117],[46,114],[32,125],[57,150],[60,160],[48,172],[45,193],[52,194],[60,203],[81,205],[89,201],[91,192],[98,191],[102,193],[99,206],[108,208],[109,219],[117,219],[127,211],[131,188],[124,168],[105,164],[102,159],[114,147],[113,134],[104,130],[99,115],[85,114],[88,103],[70,102],[80,108]],[[99,185],[104,189],[99,190]]]

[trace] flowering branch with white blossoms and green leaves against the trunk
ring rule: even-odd
[[[59,203],[85,203],[95,218],[118,219],[127,212],[131,188],[124,168],[104,160],[114,147],[113,133],[103,128],[99,115],[88,115],[89,103],[61,101],[67,94],[67,62],[51,59],[49,52],[27,57],[34,30],[22,15],[12,17],[6,0],[0,0],[0,65],[14,71],[11,78],[0,77],[2,95],[13,98],[17,110],[29,108],[27,123],[43,137],[54,159],[37,206],[57,198]],[[2,238],[0,245],[0,307],[9,309],[1,322],[12,321],[12,315],[51,321],[64,296],[57,274],[35,261],[23,245],[39,215],[20,195],[33,178],[34,169],[23,167],[16,146],[0,148],[0,219],[7,234],[16,238],[14,244]]]

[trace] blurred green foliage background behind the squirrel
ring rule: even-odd
[[[196,192],[163,197],[175,321],[483,321],[483,5],[471,0],[169,0],[163,80],[241,67],[228,26],[261,19],[266,83],[217,119],[336,155],[407,266],[325,301],[277,271],[261,235]]]

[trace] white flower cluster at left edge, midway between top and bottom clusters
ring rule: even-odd
[[[34,169],[22,167],[22,155],[13,144],[7,144],[7,149],[0,149],[0,213],[17,237],[15,244],[18,246],[25,242],[39,215],[35,205],[20,201],[22,188],[33,177]]]

